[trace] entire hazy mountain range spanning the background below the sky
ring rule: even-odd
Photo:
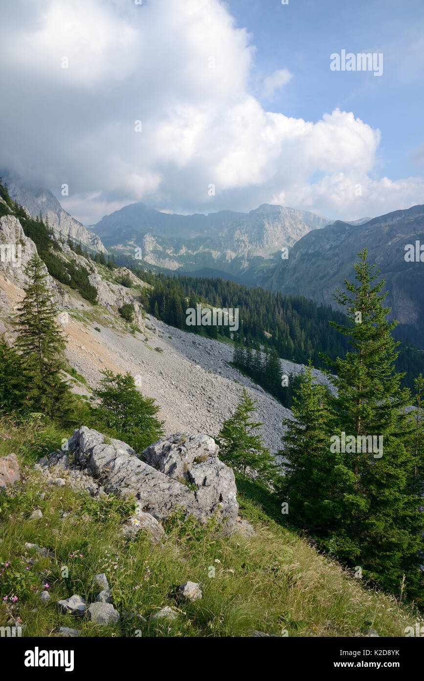
[[[305,210],[262,204],[247,213],[175,215],[129,204],[88,229],[63,210],[52,192],[3,172],[10,195],[31,215],[41,212],[55,232],[93,251],[115,253],[168,272],[232,279],[302,295],[337,308],[336,289],[354,276],[357,251],[367,247],[381,270],[397,336],[424,348],[424,270],[406,262],[406,244],[424,244],[424,206],[355,221],[332,221]],[[281,250],[288,249],[288,258]],[[138,251],[137,251],[138,249]]]

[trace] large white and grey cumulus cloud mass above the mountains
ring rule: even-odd
[[[311,122],[264,109],[251,36],[220,0],[15,0],[4,15],[0,165],[84,223],[135,201],[345,217],[419,202],[423,180],[374,178],[381,135],[353,112]],[[264,92],[291,76],[279,69]]]

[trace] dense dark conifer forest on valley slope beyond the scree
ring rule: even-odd
[[[342,336],[336,324],[349,323],[347,317],[330,306],[317,306],[301,296],[285,296],[259,287],[247,287],[224,279],[201,279],[193,276],[169,276],[145,272],[137,266],[132,270],[139,279],[154,287],[152,293],[143,291],[142,302],[157,319],[171,326],[192,333],[207,334],[217,338],[218,333],[230,338],[230,328],[222,326],[187,326],[186,309],[195,308],[197,303],[221,308],[239,308],[239,330],[232,333],[236,343],[255,352],[258,344],[265,352],[275,350],[278,357],[298,364],[328,369],[323,355],[335,360],[346,354],[349,340]],[[250,353],[246,358],[239,355],[237,366],[244,368],[263,385],[261,371],[250,366]],[[414,378],[424,373],[424,353],[407,345],[400,346],[395,369],[405,373],[402,385],[414,386]],[[260,380],[261,379],[261,380]],[[269,381],[268,381],[269,383]],[[287,404],[287,391],[263,385],[277,398]]]

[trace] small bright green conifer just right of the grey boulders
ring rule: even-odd
[[[244,478],[258,477],[266,482],[272,481],[276,475],[275,459],[255,432],[263,424],[251,421],[252,414],[258,411],[255,407],[257,402],[243,387],[243,396],[232,417],[222,424],[217,443],[219,458],[224,463],[243,474]]]

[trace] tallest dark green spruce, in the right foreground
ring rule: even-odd
[[[393,369],[399,343],[391,336],[397,322],[387,321],[389,308],[383,306],[385,282],[375,283],[378,272],[368,264],[366,249],[358,256],[357,283],[345,281],[346,291],[335,295],[338,304],[347,307],[351,324],[333,322],[353,349],[345,359],[329,364],[338,391],[330,398],[332,436],[341,438],[345,432],[355,443],[361,438],[361,447],[346,446],[342,455],[351,481],[344,490],[342,526],[332,550],[391,590],[399,588],[406,575],[412,593],[419,580],[424,526],[420,500],[409,488],[414,457],[406,446],[410,427],[405,407],[410,392],[400,387],[402,375]],[[371,448],[370,437],[383,443],[382,451]]]

